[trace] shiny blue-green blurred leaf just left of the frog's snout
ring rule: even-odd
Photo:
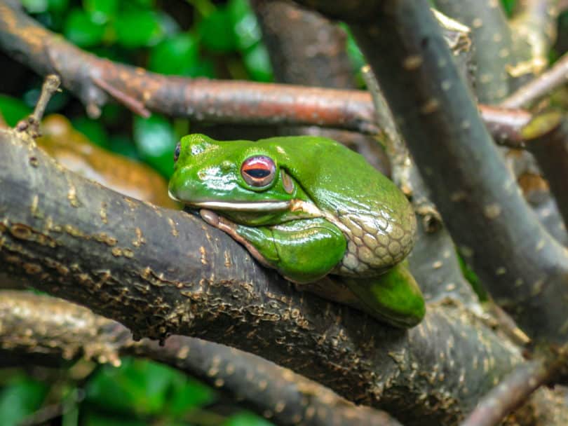
[[[177,137],[168,120],[154,114],[134,121],[134,142],[140,157],[163,176],[169,178],[173,172],[173,151]]]

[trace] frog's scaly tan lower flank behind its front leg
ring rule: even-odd
[[[344,214],[337,217],[347,239],[347,249],[333,273],[373,276],[402,261],[414,245],[416,218],[383,212],[376,216]]]

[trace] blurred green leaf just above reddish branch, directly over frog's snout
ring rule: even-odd
[[[161,74],[190,75],[199,55],[199,46],[191,34],[177,34],[152,48],[148,67]]]

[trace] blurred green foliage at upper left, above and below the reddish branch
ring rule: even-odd
[[[248,0],[24,0],[22,4],[36,20],[76,46],[111,60],[160,74],[273,79]],[[23,102],[0,99],[0,111],[8,124],[28,114],[40,87],[36,78],[22,95]],[[50,101],[48,113],[68,116],[96,144],[142,159],[170,177],[175,143],[189,131],[189,123],[173,125],[173,120],[156,115],[147,120],[133,118],[123,107],[112,104],[95,121],[77,114],[73,102],[67,92],[58,94]]]

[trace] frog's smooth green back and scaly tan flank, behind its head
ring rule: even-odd
[[[363,156],[324,137],[276,137],[280,165],[348,240],[335,273],[372,276],[402,261],[414,245],[416,219],[405,195]]]

